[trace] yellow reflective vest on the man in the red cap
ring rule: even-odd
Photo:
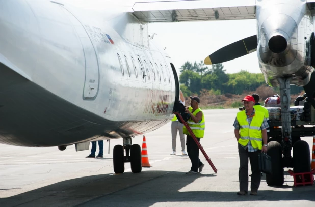
[[[255,110],[255,115],[250,123],[247,122],[245,110],[237,113],[237,120],[241,127],[239,143],[246,146],[248,142],[253,148],[261,150],[263,148],[263,134],[261,133],[261,124],[263,124],[265,113]]]

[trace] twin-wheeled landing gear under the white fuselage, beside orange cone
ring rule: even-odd
[[[124,150],[126,156],[124,156]],[[123,146],[116,145],[114,147],[114,172],[123,173],[125,171],[125,162],[130,162],[132,172],[141,172],[141,147],[138,144],[132,144],[132,140],[130,137],[123,138]]]

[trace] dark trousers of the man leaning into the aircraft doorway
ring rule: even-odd
[[[197,140],[200,142],[200,138],[197,138]],[[187,153],[188,153],[189,159],[192,162],[192,167],[190,168],[190,170],[198,172],[198,167],[202,165],[202,162],[199,159],[198,145],[194,141],[193,137],[189,135],[187,135],[187,138],[186,138],[186,145],[187,145]]]

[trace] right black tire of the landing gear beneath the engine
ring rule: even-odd
[[[310,172],[309,145],[306,141],[297,141],[293,145],[293,171]]]

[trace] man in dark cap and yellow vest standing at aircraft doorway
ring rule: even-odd
[[[187,121],[188,126],[191,128],[192,132],[196,136],[197,140],[200,142],[200,139],[203,138],[204,135],[204,115],[202,110],[199,108],[200,99],[197,96],[190,96],[191,99],[191,107],[186,108],[186,112],[190,114],[190,119]],[[186,137],[186,145],[187,145],[187,153],[189,159],[191,160],[192,167],[190,171],[186,172],[186,174],[197,174],[202,172],[204,164],[199,159],[199,147],[191,137],[191,134],[188,132],[187,128],[183,127],[183,133],[187,135]]]

